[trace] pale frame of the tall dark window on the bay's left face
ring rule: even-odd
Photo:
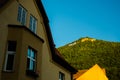
[[[15,46],[14,46],[15,51],[9,51],[9,42],[10,41],[8,41],[7,51],[6,51],[6,56],[5,56],[5,64],[4,64],[4,69],[3,69],[6,72],[12,72],[14,70],[14,59],[15,59],[15,54],[16,54],[16,41],[11,41],[11,42],[15,42]],[[9,55],[14,56],[13,61],[12,61],[12,69],[11,70],[7,69]]]

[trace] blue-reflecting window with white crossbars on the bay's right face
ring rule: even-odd
[[[28,48],[27,54],[27,70],[31,70],[35,72],[36,67],[36,54],[32,48]]]

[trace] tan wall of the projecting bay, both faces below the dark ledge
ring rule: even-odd
[[[18,36],[19,35],[19,36]],[[37,51],[37,63],[41,61],[42,41],[24,28],[8,28],[8,40],[17,41],[14,60],[14,70],[11,73],[3,72],[2,80],[34,80],[26,76],[27,50],[32,47]],[[41,70],[41,63],[37,64],[36,71]],[[6,77],[7,76],[7,77]],[[39,77],[40,78],[40,77]],[[40,80],[40,79],[39,79]]]

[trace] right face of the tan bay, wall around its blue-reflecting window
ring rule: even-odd
[[[22,54],[20,55],[20,68],[19,68],[19,80],[34,80],[33,78],[30,78],[26,76],[26,65],[27,65],[27,51],[28,47],[32,47],[35,49],[36,52],[36,72],[38,72],[38,80],[41,80],[41,62],[42,62],[42,41],[40,39],[36,38],[34,35],[31,35],[29,32],[26,32],[26,30],[23,31],[23,38],[22,38]],[[24,73],[24,74],[21,74]]]

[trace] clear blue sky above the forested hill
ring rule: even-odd
[[[120,42],[120,0],[42,0],[56,47],[81,37]]]

